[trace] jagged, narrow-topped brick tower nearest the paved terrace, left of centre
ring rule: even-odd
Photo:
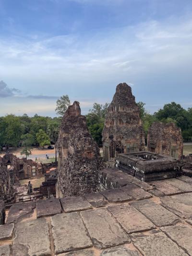
[[[63,116],[56,148],[59,152],[57,197],[96,192],[103,162],[77,101]]]

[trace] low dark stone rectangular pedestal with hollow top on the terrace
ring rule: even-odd
[[[142,181],[175,178],[182,174],[180,160],[152,152],[118,154],[117,167]]]

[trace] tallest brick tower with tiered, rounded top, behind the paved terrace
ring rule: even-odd
[[[103,135],[104,161],[114,161],[117,153],[133,153],[144,150],[144,130],[139,108],[126,83],[117,85],[105,120]]]

